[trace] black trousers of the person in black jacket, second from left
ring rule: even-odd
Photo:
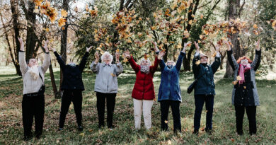
[[[74,111],[76,114],[76,122],[81,127],[81,105],[82,105],[82,92],[80,90],[64,90],[62,95],[62,108],[59,116],[59,127],[64,127],[65,117],[69,110],[69,106],[73,102]]]

